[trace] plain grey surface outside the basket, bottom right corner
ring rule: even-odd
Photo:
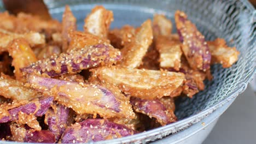
[[[226,110],[203,144],[256,143],[256,95],[248,86]]]

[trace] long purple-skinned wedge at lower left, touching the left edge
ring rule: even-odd
[[[0,123],[6,123],[10,121],[18,120],[19,112],[24,112],[27,115],[34,113],[34,116],[40,117],[43,116],[44,113],[49,109],[51,104],[53,103],[53,97],[48,98],[37,98],[33,99],[28,104],[16,107],[14,109],[8,110],[9,116],[3,116],[0,119]]]

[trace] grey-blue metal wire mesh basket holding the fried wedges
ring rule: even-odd
[[[77,17],[79,29],[83,27],[84,17],[98,4],[113,10],[112,28],[125,24],[139,26],[146,19],[152,19],[155,13],[165,14],[174,24],[175,11],[183,10],[207,40],[224,38],[229,46],[236,46],[240,51],[238,62],[231,68],[212,66],[214,80],[205,82],[205,91],[196,94],[192,99],[179,99],[176,111],[178,122],[133,136],[97,143],[146,143],[183,130],[237,97],[246,89],[255,74],[255,10],[246,1],[45,0],[45,2],[53,17],[59,20],[65,5],[70,5],[73,14]]]

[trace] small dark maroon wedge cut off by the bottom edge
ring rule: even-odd
[[[49,130],[31,131],[26,130],[24,142],[55,143],[54,134]]]

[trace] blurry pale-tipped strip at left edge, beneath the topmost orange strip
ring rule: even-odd
[[[44,35],[36,33],[36,32],[28,32],[25,34],[8,33],[8,34],[3,35],[3,37],[0,38],[0,53],[2,53],[4,51],[8,51],[8,44],[17,38],[26,39],[28,44],[30,44],[30,46],[32,46],[32,47],[36,46],[36,45],[45,44]]]

